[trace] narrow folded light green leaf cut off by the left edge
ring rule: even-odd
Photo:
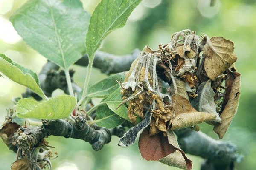
[[[12,81],[30,88],[42,98],[47,99],[40,88],[37,75],[33,71],[13,62],[3,54],[0,54],[0,72]]]

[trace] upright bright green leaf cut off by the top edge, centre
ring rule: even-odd
[[[111,31],[125,26],[131,12],[142,0],[102,0],[90,19],[86,47],[89,57]]]

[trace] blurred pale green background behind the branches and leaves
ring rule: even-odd
[[[11,14],[26,0],[0,0],[0,53],[20,65],[39,73],[46,59],[26,45],[9,22]],[[82,0],[84,8],[92,13],[99,0]],[[236,144],[244,160],[236,164],[237,170],[256,167],[256,1],[215,0],[144,0],[128,19],[127,25],[113,31],[103,42],[101,50],[112,54],[129,54],[135,48],[148,45],[157,49],[167,43],[172,33],[182,29],[195,30],[198,35],[220,36],[235,44],[237,70],[242,74],[241,97],[238,112],[224,136],[224,141]],[[76,82],[82,86],[86,68],[74,66]],[[91,83],[106,77],[93,70]],[[20,96],[26,88],[0,77],[0,123],[6,116],[6,108],[12,107],[12,97]],[[201,124],[201,130],[214,139],[210,125]],[[95,152],[90,144],[76,139],[50,136],[47,141],[55,146],[58,158],[52,160],[54,170],[177,170],[154,161],[145,161],[137,144],[128,149],[117,146],[118,138]],[[201,158],[192,159],[193,170],[200,169]],[[16,155],[0,140],[0,170],[8,170]]]

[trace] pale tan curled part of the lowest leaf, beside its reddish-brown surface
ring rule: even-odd
[[[169,144],[172,144],[176,148],[176,150],[174,153],[169,154],[168,156],[160,159],[159,161],[169,166],[191,170],[192,161],[188,159],[185,153],[183,152],[183,150],[180,149],[176,136],[171,130],[167,132],[167,137],[168,137]]]

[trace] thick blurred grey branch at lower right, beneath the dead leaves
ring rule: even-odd
[[[234,163],[242,158],[235,145],[217,141],[200,131],[182,129],[175,133],[185,153],[206,159],[201,165],[201,170],[233,170]]]

